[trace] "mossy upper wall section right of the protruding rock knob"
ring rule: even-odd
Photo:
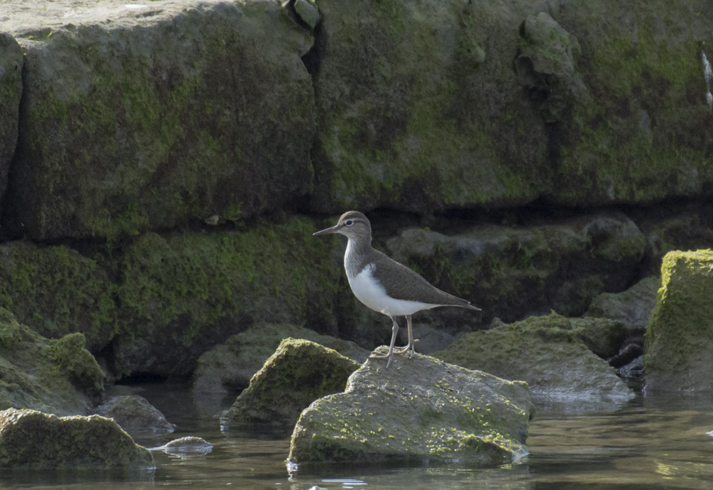
[[[599,1],[553,14],[577,37],[580,98],[558,131],[551,198],[568,205],[704,195],[713,181],[701,56],[713,42],[703,0]],[[710,56],[710,53],[708,53]]]

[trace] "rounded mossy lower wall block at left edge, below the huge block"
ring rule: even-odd
[[[81,332],[103,349],[116,333],[115,290],[96,260],[65,245],[0,245],[0,307],[43,337]]]

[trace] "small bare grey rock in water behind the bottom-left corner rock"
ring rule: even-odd
[[[163,414],[137,394],[111,397],[96,408],[96,414],[114,419],[129,434],[170,433],[175,429]]]

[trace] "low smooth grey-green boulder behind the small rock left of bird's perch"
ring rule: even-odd
[[[258,322],[198,358],[198,367],[193,372],[193,393],[197,398],[203,398],[206,394],[225,394],[228,390],[247,388],[250,379],[288,337],[317,342],[359,364],[369,357],[369,351],[354,342],[289,323]]]

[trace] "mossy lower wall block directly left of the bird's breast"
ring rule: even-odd
[[[329,321],[343,274],[324,260],[331,248],[316,228],[289,218],[133,240],[116,265],[125,327],[108,363],[117,374],[188,377],[200,354],[255,322]]]

